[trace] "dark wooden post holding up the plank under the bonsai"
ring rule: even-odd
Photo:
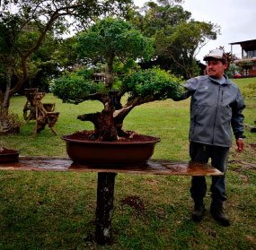
[[[116,173],[98,173],[95,241],[99,245],[111,242],[116,175]]]

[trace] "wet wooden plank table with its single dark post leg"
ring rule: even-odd
[[[1,163],[0,170],[97,172],[98,185],[95,240],[100,245],[111,242],[111,218],[113,215],[114,186],[117,173],[165,176],[223,175],[223,173],[216,168],[204,163],[169,159],[149,159],[148,162],[142,166],[96,168],[75,164],[68,158],[24,156],[20,157],[18,162]]]

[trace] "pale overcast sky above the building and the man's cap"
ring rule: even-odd
[[[142,6],[146,0],[134,0]],[[202,62],[210,49],[225,46],[231,51],[229,43],[256,39],[256,0],[184,0],[183,8],[192,13],[192,18],[201,22],[213,22],[221,27],[221,35],[209,41],[197,58]],[[233,53],[241,56],[239,45],[233,46]]]

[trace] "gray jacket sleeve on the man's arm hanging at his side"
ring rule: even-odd
[[[244,100],[241,92],[239,89],[237,90],[237,95],[235,102],[232,105],[232,118],[231,118],[231,125],[233,128],[233,133],[235,139],[243,138],[243,114],[242,111],[245,108]]]

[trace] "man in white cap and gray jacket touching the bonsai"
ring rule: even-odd
[[[237,144],[237,152],[243,152],[244,101],[238,87],[230,82],[224,71],[228,66],[223,50],[214,49],[204,57],[207,75],[192,78],[184,83],[185,94],[181,99],[190,101],[190,158],[208,162],[224,173],[212,177],[210,213],[221,225],[230,221],[223,211],[225,196],[225,170],[229,148],[232,144],[231,126]],[[180,100],[180,99],[177,99]],[[190,194],[195,206],[192,220],[200,221],[206,211],[204,197],[207,193],[205,177],[192,177]]]

